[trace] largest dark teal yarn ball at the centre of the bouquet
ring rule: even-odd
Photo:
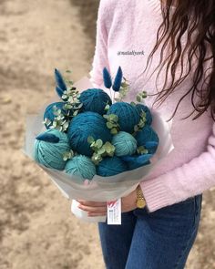
[[[67,135],[71,148],[79,154],[87,156],[93,154],[93,150],[87,142],[88,137],[102,140],[104,143],[112,140],[106,120],[101,115],[90,111],[80,113],[70,121]]]

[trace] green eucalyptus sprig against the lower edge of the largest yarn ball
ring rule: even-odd
[[[103,157],[109,156],[113,157],[115,152],[115,147],[110,143],[103,143],[102,140],[94,140],[93,137],[88,137],[88,143],[90,144],[90,148],[94,151],[91,160],[98,165]]]

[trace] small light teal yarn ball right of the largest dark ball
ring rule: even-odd
[[[119,131],[112,140],[112,145],[115,146],[115,155],[118,157],[134,154],[137,150],[137,144],[137,140],[125,131]]]

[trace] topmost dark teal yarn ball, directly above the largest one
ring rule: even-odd
[[[97,112],[100,115],[106,113],[105,107],[112,104],[111,98],[101,88],[88,88],[80,94],[80,102],[83,111]]]

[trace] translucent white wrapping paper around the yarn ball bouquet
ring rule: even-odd
[[[79,91],[87,88],[93,88],[88,78],[82,78],[75,87]],[[34,143],[36,136],[45,130],[43,122],[44,111],[46,106],[60,99],[52,98],[46,103],[37,115],[29,115],[26,122],[26,143],[24,151],[28,157],[34,160]],[[116,176],[100,177],[94,176],[92,181],[81,180],[77,176],[68,175],[65,171],[57,171],[49,169],[38,164],[50,176],[50,179],[56,184],[56,187],[63,193],[67,199],[71,200],[87,200],[95,202],[114,201],[120,197],[128,195],[135,190],[139,181],[144,181],[144,177],[159,164],[159,160],[164,158],[173,150],[171,137],[169,134],[169,123],[165,122],[158,112],[151,110],[153,123],[152,128],[159,135],[159,147],[155,155],[151,159],[151,163],[147,166],[140,167],[133,171],[122,172]],[[104,222],[106,218],[87,217],[86,212],[82,212],[77,208],[77,202],[72,205],[72,212],[78,218],[86,221]],[[90,220],[89,220],[90,218]]]

